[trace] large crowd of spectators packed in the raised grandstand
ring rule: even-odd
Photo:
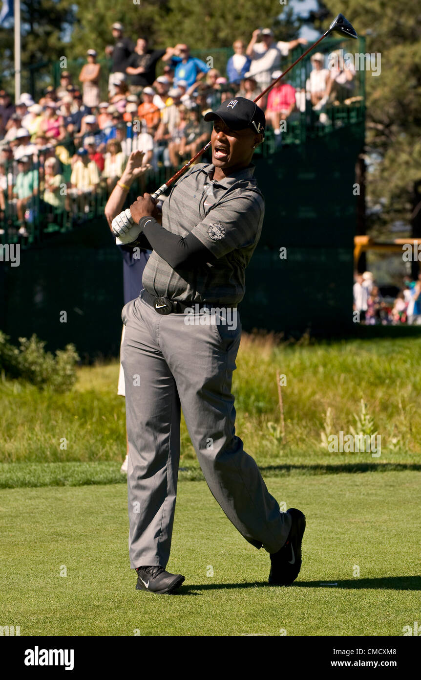
[[[155,171],[181,167],[210,138],[206,111],[236,96],[255,99],[280,75],[289,51],[306,43],[274,41],[270,29],[256,29],[248,45],[234,41],[221,73],[191,56],[186,44],[157,50],[147,37],[134,44],[120,23],[111,31],[106,101],[100,97],[106,74],[94,49],[88,49],[77,81],[63,69],[60,84],[46,88],[39,101],[23,93],[14,105],[0,90],[0,231],[12,215],[19,235],[27,237],[37,210],[46,222],[60,214],[83,221],[96,197],[109,195],[132,150],[143,151],[143,163]],[[281,121],[304,110],[306,101],[322,114],[327,102],[352,92],[350,69],[329,71],[325,58],[312,56],[302,91],[282,80],[259,101],[276,139]]]

